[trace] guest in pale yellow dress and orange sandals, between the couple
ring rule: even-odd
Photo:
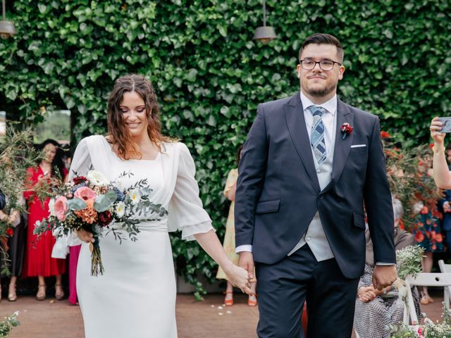
[[[237,165],[238,163],[240,163],[241,151],[242,145],[238,146],[237,149]],[[231,201],[231,203],[228,211],[226,234],[224,235],[223,247],[224,251],[226,251],[228,258],[235,265],[238,265],[239,258],[237,253],[235,253],[235,218],[233,215],[235,212],[235,190],[237,189],[237,178],[238,178],[238,170],[236,168],[230,170],[226,181],[226,187],[224,187],[224,195],[227,197],[229,201]],[[218,280],[227,280],[226,273],[224,273],[221,267],[218,268],[216,278]],[[255,295],[256,284],[257,284],[256,280],[253,280],[251,282],[251,288],[254,294],[249,295],[249,299],[247,300],[247,305],[249,306],[257,306],[257,297]],[[228,280],[227,280],[227,289],[225,293],[226,298],[224,299],[224,303],[226,304],[226,306],[233,306],[233,284],[230,283]]]

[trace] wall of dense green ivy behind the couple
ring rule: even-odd
[[[235,149],[259,102],[297,91],[297,53],[308,35],[342,41],[341,98],[379,115],[405,146],[426,142],[431,117],[451,115],[447,0],[268,0],[278,39],[267,45],[252,41],[262,25],[259,0],[7,2],[18,34],[0,41],[0,108],[29,124],[52,107],[70,109],[75,143],[105,132],[117,77],[146,75],[163,131],[192,151],[220,237],[228,210],[221,190]],[[214,279],[216,266],[197,244],[171,238],[179,273],[193,284],[199,273]]]

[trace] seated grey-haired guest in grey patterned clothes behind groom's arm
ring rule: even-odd
[[[409,232],[401,230],[402,204],[400,200],[393,199],[393,213],[395,215],[395,248],[402,249],[415,245],[415,239]],[[381,291],[373,288],[372,275],[375,266],[373,258],[373,243],[366,235],[365,272],[360,278],[357,299],[355,302],[354,328],[361,338],[389,338],[390,324],[402,323],[404,303],[398,299],[393,286],[385,287]],[[416,312],[420,316],[419,293],[416,287],[412,290]]]

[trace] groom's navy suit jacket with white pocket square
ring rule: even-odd
[[[340,100],[337,114],[332,181],[321,191],[299,92],[259,104],[235,194],[235,243],[252,244],[255,261],[272,264],[287,256],[319,211],[343,275],[359,277],[365,262],[365,201],[375,259],[395,263],[379,120]],[[345,139],[343,123],[354,127]]]

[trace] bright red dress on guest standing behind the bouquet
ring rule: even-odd
[[[29,187],[33,187],[37,183],[37,177],[44,175],[41,167],[28,168]],[[64,175],[67,175],[67,170]],[[32,276],[55,276],[61,275],[66,270],[66,260],[51,258],[51,250],[55,244],[55,237],[51,231],[47,231],[37,239],[33,234],[35,223],[49,216],[49,199],[44,202],[42,208],[41,201],[35,196],[35,193],[28,190],[23,193],[28,205],[28,221],[27,221],[27,245],[25,246],[25,261],[23,267],[23,277]]]

